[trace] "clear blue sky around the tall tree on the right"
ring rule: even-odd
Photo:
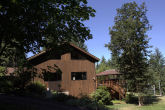
[[[165,0],[88,0],[88,5],[96,10],[96,16],[85,22],[93,35],[93,39],[85,42],[91,54],[98,58],[104,56],[107,60],[110,58],[110,51],[104,47],[110,42],[109,27],[114,25],[116,9],[132,1],[146,3],[147,17],[152,26],[148,31],[149,44],[153,46],[151,50],[159,48],[165,57]]]

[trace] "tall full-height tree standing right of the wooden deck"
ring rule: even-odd
[[[139,106],[147,87],[147,57],[150,46],[146,34],[151,29],[146,16],[146,6],[130,2],[117,9],[115,24],[110,28],[111,41],[106,46],[112,51],[119,71],[123,73],[129,89],[138,93]]]

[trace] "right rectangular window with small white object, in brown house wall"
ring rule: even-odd
[[[71,72],[71,80],[86,80],[86,72]]]

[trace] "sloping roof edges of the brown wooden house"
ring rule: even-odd
[[[81,49],[81,48],[75,46],[75,45],[72,44],[72,43],[69,43],[69,45],[70,45],[71,47],[75,48],[76,50],[78,50],[78,51],[84,53],[85,55],[89,56],[90,58],[92,58],[93,60],[95,60],[95,61],[97,61],[97,62],[100,60],[100,59],[97,58],[96,56],[90,54],[89,52],[86,52],[85,50],[83,50],[83,49]],[[28,60],[30,61],[30,60],[32,60],[32,59],[35,59],[35,58],[39,57],[40,55],[43,55],[43,54],[46,53],[46,52],[47,52],[47,51],[41,51],[40,53],[35,54],[34,56],[29,57]]]

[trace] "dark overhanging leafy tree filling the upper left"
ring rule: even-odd
[[[0,2],[0,56],[9,48],[37,52],[92,35],[83,21],[94,17],[87,0],[6,0]]]

